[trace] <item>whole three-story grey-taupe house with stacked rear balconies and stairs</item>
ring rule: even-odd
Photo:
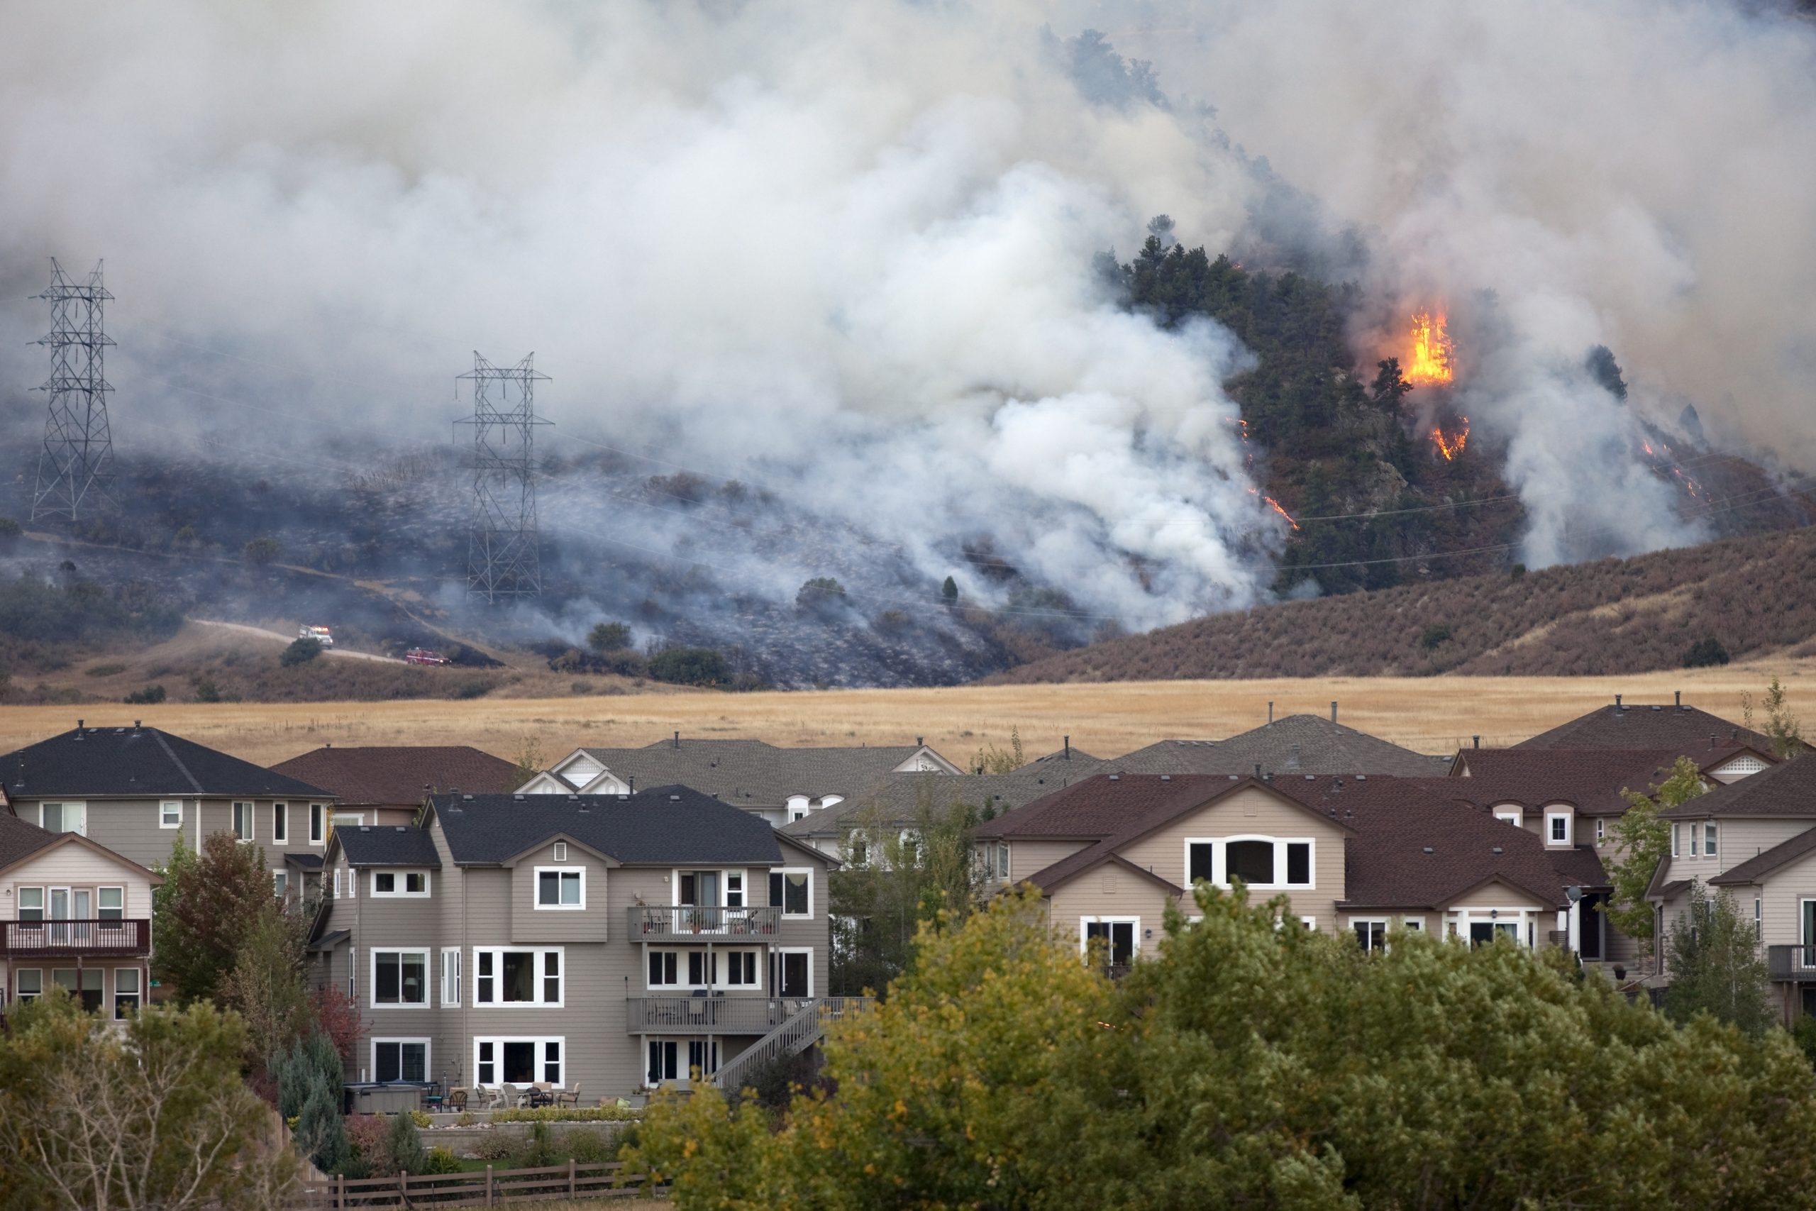
[[[685,786],[434,795],[334,830],[314,979],[360,1006],[365,1080],[739,1080],[819,1035],[830,866]]]

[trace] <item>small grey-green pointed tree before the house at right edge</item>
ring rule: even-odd
[[[1767,1000],[1765,955],[1752,933],[1752,917],[1734,910],[1727,888],[1709,895],[1693,882],[1689,906],[1671,930],[1665,1013],[1689,1022],[1707,1013],[1718,1022],[1760,1035],[1776,1019]]]

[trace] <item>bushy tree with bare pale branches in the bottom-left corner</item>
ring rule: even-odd
[[[151,1006],[123,1031],[62,995],[20,1006],[0,1040],[5,1206],[287,1206],[296,1158],[262,1138],[243,1051],[238,1017],[212,1006]]]

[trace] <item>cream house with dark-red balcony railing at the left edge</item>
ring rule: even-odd
[[[0,1006],[62,986],[125,1019],[151,989],[151,893],[162,877],[82,833],[0,813]]]

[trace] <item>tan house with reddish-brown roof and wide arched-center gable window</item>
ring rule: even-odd
[[[981,824],[977,846],[997,882],[1039,888],[1055,931],[1081,951],[1100,939],[1111,966],[1155,946],[1170,902],[1189,915],[1199,881],[1284,897],[1366,948],[1397,926],[1542,946],[1574,944],[1591,873],[1576,850],[1378,775],[1106,773]]]

